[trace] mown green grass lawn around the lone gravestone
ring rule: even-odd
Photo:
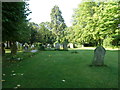
[[[118,51],[106,52],[107,67],[89,67],[93,50],[72,51],[41,51],[21,62],[4,65],[3,88],[17,85],[21,85],[20,88],[118,87]],[[11,76],[12,71],[16,76]]]

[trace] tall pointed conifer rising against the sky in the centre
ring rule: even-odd
[[[62,42],[62,38],[64,37],[64,31],[67,27],[62,17],[62,12],[60,11],[59,7],[55,5],[51,10],[50,15],[52,31],[57,36],[57,41]]]

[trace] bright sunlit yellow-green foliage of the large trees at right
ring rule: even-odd
[[[98,45],[103,44],[105,38],[107,40],[109,37],[117,35],[118,24],[120,24],[118,5],[119,2],[82,2],[79,4],[74,11],[73,26],[70,27],[71,30],[67,35],[70,38],[69,41]],[[120,38],[116,39],[117,42]],[[112,44],[110,40],[106,43],[108,42]]]

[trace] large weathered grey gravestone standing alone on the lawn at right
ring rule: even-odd
[[[94,50],[94,59],[92,64],[95,66],[102,66],[104,65],[104,57],[105,57],[106,50],[104,47],[99,46]]]

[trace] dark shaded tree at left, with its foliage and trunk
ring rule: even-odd
[[[16,54],[16,41],[22,41],[29,37],[27,16],[30,14],[26,2],[2,3],[2,38],[3,42],[11,42],[11,53]]]

